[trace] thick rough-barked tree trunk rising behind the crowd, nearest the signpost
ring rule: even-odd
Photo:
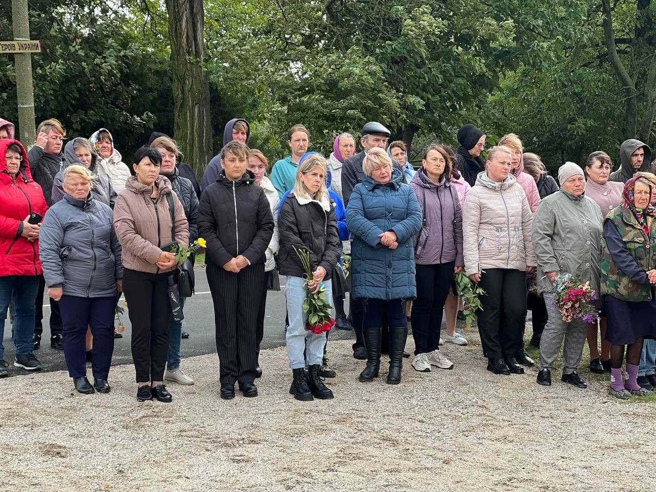
[[[166,0],[175,102],[174,136],[199,176],[212,152],[209,81],[205,63],[203,0]]]

